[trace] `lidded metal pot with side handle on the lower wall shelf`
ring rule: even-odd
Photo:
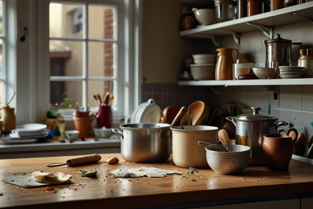
[[[276,39],[264,40],[266,46],[266,67],[276,67],[275,62],[279,66],[290,66],[291,61],[291,45],[302,45],[300,42],[292,43],[292,40],[283,39],[277,34]]]

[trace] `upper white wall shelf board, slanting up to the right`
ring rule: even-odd
[[[258,24],[270,28],[290,25],[305,22],[307,21],[306,18],[313,20],[312,9],[313,2],[307,2],[250,17],[229,20],[196,29],[181,31],[179,32],[179,35],[181,37],[206,38],[208,36],[228,36],[233,35],[233,33],[242,34],[258,30],[247,23]],[[292,15],[290,13],[296,13],[297,15]]]

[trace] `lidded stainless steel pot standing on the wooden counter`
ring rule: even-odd
[[[288,125],[272,115],[259,113],[260,107],[251,107],[253,113],[226,117],[236,126],[236,144],[249,146],[251,149],[249,165],[265,165],[262,144],[265,134],[277,133],[277,128]]]

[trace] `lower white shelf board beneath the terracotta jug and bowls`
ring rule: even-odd
[[[276,85],[313,85],[313,78],[294,79],[257,79],[226,81],[178,81],[179,86],[276,86]]]

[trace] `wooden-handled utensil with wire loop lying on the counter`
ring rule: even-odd
[[[99,154],[93,154],[90,156],[68,159],[66,161],[66,163],[48,163],[47,166],[48,167],[58,167],[58,166],[67,165],[69,167],[72,167],[72,166],[77,166],[77,165],[96,163],[100,159],[101,159],[101,156]]]

